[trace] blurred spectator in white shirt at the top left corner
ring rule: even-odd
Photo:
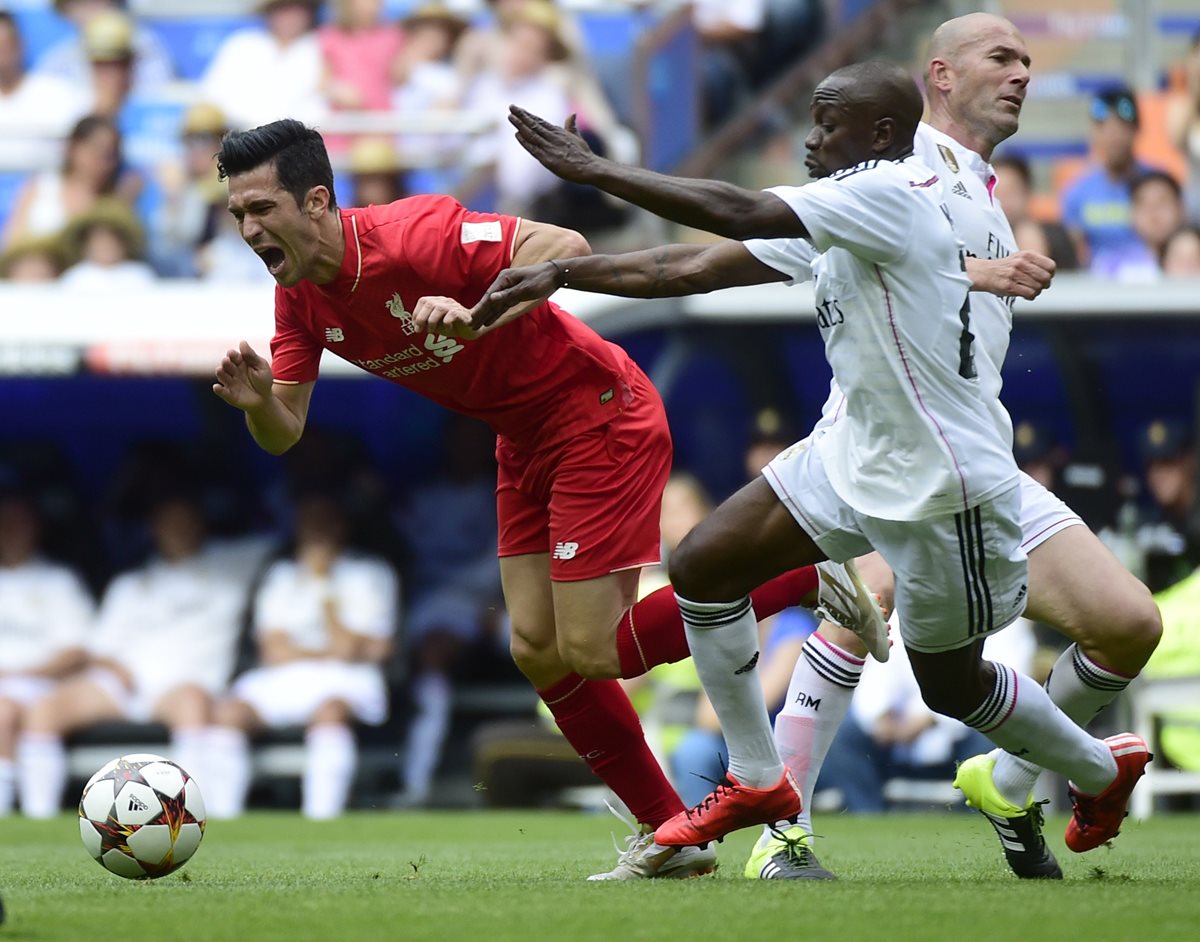
[[[43,166],[82,115],[79,95],[67,82],[25,70],[17,20],[0,10],[0,168]]]

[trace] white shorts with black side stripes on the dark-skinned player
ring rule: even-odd
[[[804,443],[772,461],[763,476],[821,551],[844,563],[878,551],[895,574],[900,635],[913,650],[970,644],[1016,620],[1028,594],[1021,548],[1020,488],[959,514],[919,521],[859,514],[838,496],[820,452]]]

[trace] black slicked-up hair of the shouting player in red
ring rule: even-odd
[[[301,121],[284,118],[250,131],[229,131],[221,138],[218,180],[248,173],[264,163],[275,166],[280,186],[292,194],[298,206],[304,205],[310,190],[323,186],[329,191],[330,209],[337,208],[334,169],[329,166],[325,142]]]

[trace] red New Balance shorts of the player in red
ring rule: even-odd
[[[535,452],[500,439],[500,557],[550,553],[556,582],[659,562],[671,430],[649,379],[641,371],[631,379],[632,403],[607,425]]]

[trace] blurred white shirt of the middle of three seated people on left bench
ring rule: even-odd
[[[101,601],[91,654],[121,664],[146,701],[184,684],[221,692],[258,554],[212,545],[182,562],[155,559],[118,576]]]

